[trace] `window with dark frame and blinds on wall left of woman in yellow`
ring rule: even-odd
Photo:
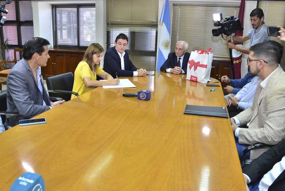
[[[55,48],[86,48],[96,42],[95,5],[53,5]]]

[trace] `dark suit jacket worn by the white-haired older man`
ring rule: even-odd
[[[182,70],[187,73],[187,63],[190,57],[190,53],[186,52],[183,57],[183,63],[182,63]],[[163,65],[160,67],[160,71],[166,72],[166,69],[168,68],[174,68],[174,67],[180,67],[178,66],[178,60],[175,52],[170,52],[168,54],[167,59],[163,63]]]

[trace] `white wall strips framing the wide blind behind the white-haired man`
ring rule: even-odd
[[[160,17],[162,8],[163,8],[164,0],[159,0],[159,13],[158,13],[158,19]],[[169,9],[170,9],[170,18],[172,18],[172,8],[173,4],[201,4],[201,5],[240,5],[239,0],[229,0],[229,1],[215,1],[215,0],[204,0],[204,1],[197,1],[197,0],[169,0]],[[252,29],[250,24],[250,12],[257,8],[257,1],[245,1],[245,14],[244,14],[244,35],[247,34],[247,32]],[[170,21],[170,28],[171,28],[171,21]],[[157,40],[157,50],[159,48],[159,34],[160,34],[160,27],[158,27],[158,40]],[[246,42],[244,47],[249,47],[249,41]],[[248,57],[248,54],[243,54],[242,58],[242,66],[241,66],[241,76],[243,77],[247,73],[247,64],[246,64],[246,58]]]

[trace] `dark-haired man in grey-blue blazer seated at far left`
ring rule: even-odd
[[[9,72],[7,111],[22,116],[9,116],[7,126],[14,126],[20,119],[34,117],[65,102],[50,102],[41,79],[39,67],[45,67],[49,58],[47,45],[49,42],[43,38],[27,40],[23,46],[23,59]]]

